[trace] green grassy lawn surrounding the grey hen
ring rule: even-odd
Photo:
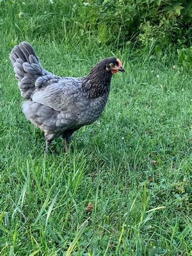
[[[170,52],[156,59],[2,28],[0,255],[190,255],[190,70]],[[57,139],[46,156],[21,111],[9,53],[25,39],[58,75],[85,75],[113,53],[124,62],[102,116],[66,154]]]

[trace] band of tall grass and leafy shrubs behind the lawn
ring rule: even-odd
[[[81,40],[121,46],[157,40],[159,48],[174,43],[190,47],[192,2],[188,0],[0,0],[1,26],[13,23],[23,34],[47,35],[61,40],[77,32]],[[5,17],[9,9],[9,17]],[[13,15],[15,13],[15,15]],[[86,36],[87,35],[87,36]]]

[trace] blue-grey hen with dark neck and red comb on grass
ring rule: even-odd
[[[111,77],[125,72],[116,58],[105,58],[84,77],[60,77],[44,70],[28,42],[16,45],[10,54],[21,96],[23,113],[45,133],[49,143],[62,136],[68,145],[73,132],[92,124],[105,108]]]

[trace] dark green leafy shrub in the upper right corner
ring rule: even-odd
[[[89,0],[76,5],[76,17],[81,28],[99,30],[105,24],[110,41],[121,45],[125,41],[142,42],[159,38],[163,45],[186,36],[192,22],[192,2],[182,0]],[[100,30],[99,30],[100,31]],[[144,39],[145,38],[145,39]],[[190,44],[186,37],[186,44]]]

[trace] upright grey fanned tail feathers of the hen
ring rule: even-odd
[[[47,71],[41,66],[33,47],[25,41],[13,48],[10,60],[13,63],[21,96],[28,100],[35,90],[36,79],[46,75]]]

